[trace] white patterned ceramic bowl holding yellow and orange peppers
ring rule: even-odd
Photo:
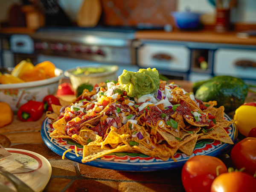
[[[16,113],[19,107],[33,100],[42,102],[47,95],[54,95],[59,81],[64,78],[61,69],[55,69],[55,77],[25,83],[0,84],[0,102],[8,103]]]

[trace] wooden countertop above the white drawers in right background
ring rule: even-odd
[[[216,33],[214,31],[137,31],[136,39],[173,40],[209,43],[227,43],[238,45],[256,45],[256,36],[248,39],[236,37],[236,31]]]

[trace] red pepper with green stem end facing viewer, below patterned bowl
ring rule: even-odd
[[[44,113],[42,102],[29,101],[20,106],[17,116],[21,121],[37,121]]]

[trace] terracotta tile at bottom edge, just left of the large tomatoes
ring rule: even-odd
[[[119,192],[185,192],[182,185],[120,183]]]

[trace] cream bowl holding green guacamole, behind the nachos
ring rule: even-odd
[[[102,73],[93,73],[89,75],[84,74],[73,74],[72,71],[75,71],[77,68],[105,68],[106,71]],[[105,82],[107,79],[112,81],[116,80],[116,71],[118,70],[117,65],[83,65],[78,66],[76,68],[68,69],[64,72],[65,76],[70,78],[72,86],[74,90],[78,88],[79,85],[82,84],[89,84],[95,85],[96,83],[99,84],[100,82]]]

